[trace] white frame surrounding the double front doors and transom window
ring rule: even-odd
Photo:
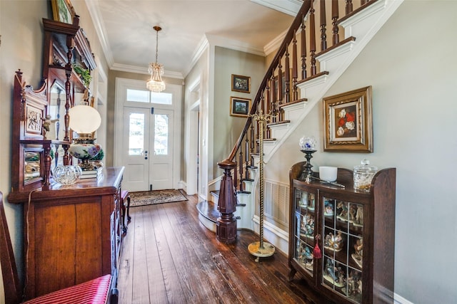
[[[121,147],[123,137],[123,115],[124,106],[139,107],[139,103],[126,102],[127,88],[144,90],[145,83],[143,80],[134,80],[127,78],[116,78],[116,98],[114,100],[114,157],[115,167],[121,167],[122,153],[116,147]],[[180,171],[181,171],[181,104],[182,104],[182,85],[168,84],[165,93],[173,94],[173,105],[161,105],[161,108],[174,110],[174,142],[173,142],[173,187],[179,189]],[[144,104],[143,104],[144,106]],[[151,107],[154,105],[151,104]]]

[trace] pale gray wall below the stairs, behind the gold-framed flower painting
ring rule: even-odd
[[[396,167],[395,292],[413,303],[457,299],[456,11],[457,1],[404,1],[326,93],[373,86],[372,154],[323,152],[320,104],[266,166],[266,178],[287,182],[306,134],[319,140],[314,169],[363,158]]]

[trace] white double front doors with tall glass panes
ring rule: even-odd
[[[174,111],[124,107],[123,188],[131,192],[172,189]]]

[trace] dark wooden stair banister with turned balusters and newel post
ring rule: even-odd
[[[338,4],[338,1],[341,2],[341,4]],[[338,23],[347,19],[349,16],[353,16],[358,11],[361,11],[366,6],[369,6],[376,1],[377,0],[361,0],[361,5],[356,9],[353,9],[353,1],[351,0],[303,0],[303,4],[296,15],[296,18],[288,28],[281,46],[279,46],[276,55],[266,69],[266,73],[261,80],[256,96],[253,98],[252,107],[246,119],[246,124],[244,125],[238,140],[236,140],[229,156],[218,163],[218,166],[221,169],[224,169],[224,178],[222,181],[224,187],[222,187],[223,185],[221,184],[221,195],[219,196],[221,216],[219,216],[217,222],[218,229],[216,229],[216,235],[219,240],[231,242],[234,241],[234,238],[236,237],[233,236],[233,231],[236,231],[236,220],[233,219],[233,212],[235,211],[236,205],[237,178],[239,174],[240,180],[238,189],[242,192],[244,180],[249,179],[248,168],[255,167],[253,164],[253,156],[259,153],[259,132],[264,132],[262,136],[265,137],[265,140],[274,140],[271,138],[271,129],[268,127],[268,124],[265,131],[259,130],[258,124],[253,124],[251,115],[256,114],[258,110],[262,110],[263,113],[271,113],[271,125],[286,122],[283,120],[283,105],[306,101],[306,97],[299,94],[297,85],[304,81],[321,77],[321,75],[328,75],[327,71],[318,71],[318,66],[316,65],[316,14],[318,14],[319,17],[318,31],[321,32],[321,52],[319,53],[319,55],[321,55],[343,43],[353,41],[355,39],[354,37],[345,38],[343,41],[340,41]],[[316,2],[318,3],[317,6],[315,5]],[[331,14],[329,14],[330,18],[328,20],[326,2],[327,5],[331,4]],[[346,15],[339,18],[339,6],[343,8],[343,4]],[[316,11],[316,8],[318,11]],[[326,41],[327,24],[331,24],[332,46],[329,47],[327,46]],[[308,31],[309,36],[308,43],[306,31]],[[297,38],[300,40],[299,43]],[[298,50],[298,48],[300,49]],[[300,54],[300,56],[298,56],[298,54]],[[301,62],[298,63],[298,61]],[[307,73],[307,61],[309,63],[309,74]],[[298,70],[298,68],[301,70]],[[298,80],[299,75],[301,75],[300,80]],[[244,152],[242,151],[243,145],[245,146]],[[239,164],[237,164],[237,160]],[[248,164],[249,162],[251,162],[250,165]],[[246,167],[243,168],[243,165]],[[245,178],[243,178],[243,169],[246,170],[246,174],[244,175]],[[234,171],[235,174],[234,179],[231,177],[232,171]]]

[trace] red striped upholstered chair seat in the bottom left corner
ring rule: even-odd
[[[84,303],[106,303],[106,295],[108,294],[109,285],[111,283],[111,275],[101,276],[94,280],[74,285],[69,288],[54,291],[41,295],[41,297],[28,300],[27,304],[84,304]]]

